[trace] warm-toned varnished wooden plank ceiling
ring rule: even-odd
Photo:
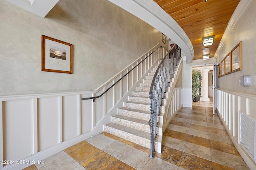
[[[214,54],[240,0],[154,0],[188,35],[194,58]],[[203,46],[202,38],[215,35],[213,45]],[[171,38],[171,37],[170,37]]]

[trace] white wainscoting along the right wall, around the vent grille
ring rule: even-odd
[[[240,113],[244,113],[251,118],[256,118],[256,96],[250,94],[241,94],[231,92],[228,90],[216,89],[216,111],[228,132],[236,149],[248,165],[250,169],[256,169],[255,159],[253,160],[247,151],[243,149],[240,144]],[[248,141],[248,143],[255,143],[255,141]]]

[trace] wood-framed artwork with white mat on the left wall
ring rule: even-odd
[[[42,35],[41,70],[72,74],[72,44]]]

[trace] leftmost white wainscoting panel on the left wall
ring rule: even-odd
[[[19,160],[34,153],[33,100],[3,102],[3,159]]]

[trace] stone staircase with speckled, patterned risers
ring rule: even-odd
[[[146,79],[140,83],[140,87],[137,87],[137,90],[133,91],[133,96],[129,96],[128,102],[124,102],[124,107],[118,109],[118,114],[112,116],[112,122],[104,125],[105,132],[150,149],[150,126],[148,125],[148,120],[150,119],[150,99],[148,95],[158,64],[146,76]],[[174,73],[177,74],[177,71]],[[170,92],[172,82],[174,82],[175,75],[173,76],[173,78],[170,78],[170,83],[168,83],[169,87],[166,88],[167,92]],[[158,120],[163,120],[161,114]],[[162,122],[158,123],[157,134],[154,145],[155,150],[160,150]],[[160,146],[159,149],[158,145]]]

